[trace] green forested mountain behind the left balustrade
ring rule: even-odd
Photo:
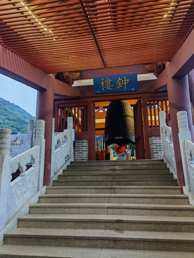
[[[21,107],[0,98],[0,128],[9,128],[12,134],[26,133],[28,120],[35,117]]]

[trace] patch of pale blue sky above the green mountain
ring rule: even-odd
[[[0,98],[8,100],[36,116],[37,90],[0,73]]]

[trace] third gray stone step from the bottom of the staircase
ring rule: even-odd
[[[18,219],[18,227],[194,232],[194,217],[28,214]]]

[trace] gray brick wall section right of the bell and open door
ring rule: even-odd
[[[162,144],[160,136],[149,137],[151,159],[162,158]]]

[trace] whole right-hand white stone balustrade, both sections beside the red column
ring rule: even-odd
[[[173,172],[173,175],[176,175],[172,131],[170,127],[166,126],[165,114],[163,111],[159,112],[159,118],[163,158],[167,166],[169,166],[170,171]],[[179,127],[182,167],[185,179],[183,192],[189,197],[189,203],[194,206],[194,143],[191,139],[186,111],[177,112],[177,121]]]

